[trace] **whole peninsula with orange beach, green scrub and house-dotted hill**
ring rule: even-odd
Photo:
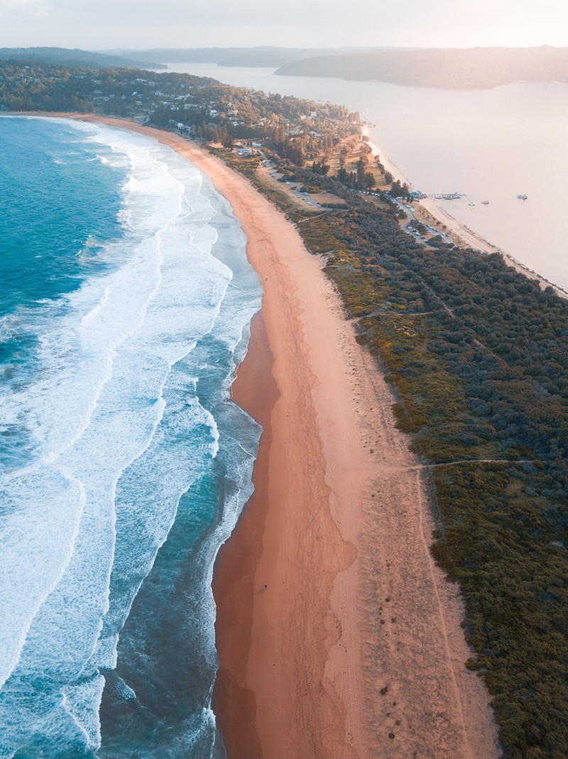
[[[256,496],[215,573],[229,753],[494,756],[485,682],[505,755],[566,754],[568,304],[406,234],[404,188],[344,109],[40,68],[3,65],[0,105],[184,153],[262,279],[234,388],[265,429]]]

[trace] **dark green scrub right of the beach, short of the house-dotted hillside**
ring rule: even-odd
[[[398,426],[447,464],[433,470],[433,550],[462,588],[467,666],[488,685],[504,754],[566,757],[568,303],[500,255],[417,244],[394,204],[281,168],[347,204],[312,220],[286,210],[386,368]]]

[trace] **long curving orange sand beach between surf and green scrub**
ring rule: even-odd
[[[231,759],[497,757],[457,587],[431,559],[425,473],[393,397],[297,228],[183,137],[264,288],[234,400],[264,429],[255,494],[215,565],[215,712]]]

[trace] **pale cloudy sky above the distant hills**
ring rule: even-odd
[[[0,46],[568,46],[566,0],[0,0]]]

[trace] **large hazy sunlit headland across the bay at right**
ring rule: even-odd
[[[513,82],[568,83],[568,48],[389,50],[291,61],[281,76],[378,80],[407,87],[487,89]]]

